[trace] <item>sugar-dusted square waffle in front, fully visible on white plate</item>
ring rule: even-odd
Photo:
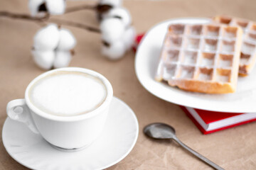
[[[171,24],[155,79],[187,91],[232,93],[238,79],[241,44],[240,27]]]

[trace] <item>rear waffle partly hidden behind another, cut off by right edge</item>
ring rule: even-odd
[[[256,61],[256,23],[241,18],[216,16],[218,23],[228,26],[240,26],[243,30],[242,48],[240,53],[239,75],[247,76]]]

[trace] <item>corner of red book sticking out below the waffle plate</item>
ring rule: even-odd
[[[222,113],[181,106],[203,134],[209,134],[256,120],[256,113]]]

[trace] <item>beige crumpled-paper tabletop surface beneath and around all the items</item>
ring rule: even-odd
[[[94,3],[68,1],[68,6]],[[131,11],[139,33],[160,21],[176,17],[225,13],[256,21],[255,0],[127,0],[124,6]],[[0,10],[28,13],[27,1],[1,0]],[[92,11],[79,11],[61,17],[97,26]],[[0,132],[6,119],[6,104],[12,99],[23,98],[28,83],[44,72],[36,67],[30,54],[33,35],[39,28],[37,23],[30,21],[0,18]],[[134,72],[134,52],[127,53],[122,60],[110,62],[100,55],[99,34],[79,28],[70,30],[78,40],[76,55],[70,66],[94,69],[104,74],[112,83],[114,96],[126,102],[139,120],[139,138],[134,149],[109,169],[210,169],[174,142],[154,142],[146,138],[142,129],[152,122],[173,125],[184,143],[225,169],[256,169],[256,123],[202,135],[178,106],[152,96],[139,84]],[[7,154],[0,142],[0,169],[26,169]]]

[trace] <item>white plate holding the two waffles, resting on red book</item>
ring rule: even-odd
[[[256,112],[256,69],[239,77],[234,94],[199,94],[183,91],[154,80],[161,46],[170,23],[208,23],[208,18],[178,18],[157,24],[142,39],[135,60],[137,77],[154,96],[182,106],[220,112]]]

